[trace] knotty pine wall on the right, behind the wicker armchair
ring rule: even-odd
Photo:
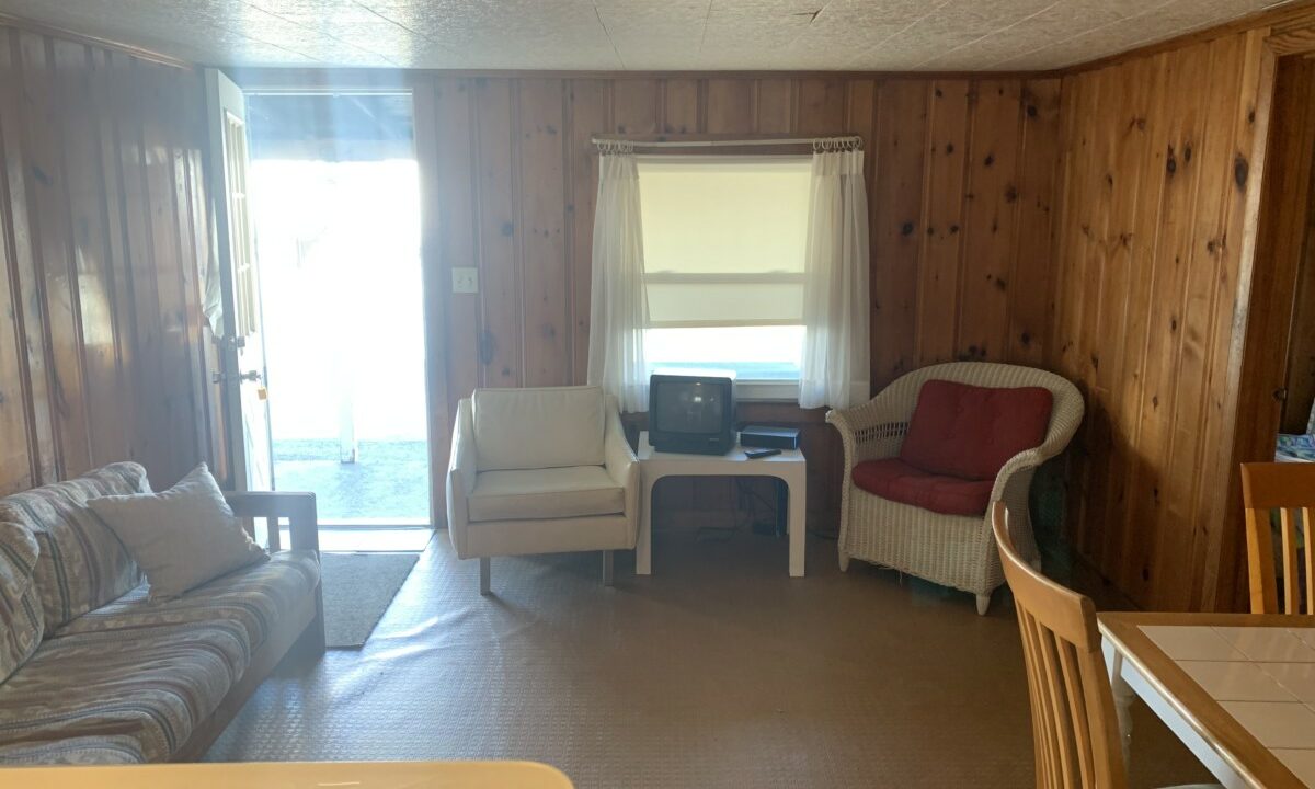
[[[1264,33],[1064,78],[1048,364],[1088,401],[1077,550],[1151,609],[1231,608],[1218,576]],[[1260,118],[1260,120],[1257,120]],[[1231,583],[1231,580],[1230,580]]]

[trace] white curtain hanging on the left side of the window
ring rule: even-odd
[[[621,410],[648,410],[644,239],[639,170],[629,146],[600,151],[590,281],[588,380],[610,392]]]

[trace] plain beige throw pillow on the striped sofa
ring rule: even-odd
[[[178,597],[268,559],[204,463],[163,493],[105,496],[87,506],[124,540],[151,584],[151,600]]]

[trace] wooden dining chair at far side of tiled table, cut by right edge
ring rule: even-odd
[[[1301,614],[1302,569],[1304,613],[1315,614],[1315,551],[1310,546],[1311,510],[1315,509],[1315,463],[1243,463],[1241,504],[1247,512],[1247,569],[1253,614]],[[1270,513],[1278,510],[1283,568],[1283,605],[1278,605],[1278,572]],[[1298,544],[1297,513],[1306,531],[1306,550]],[[1304,558],[1302,556],[1304,554]]]

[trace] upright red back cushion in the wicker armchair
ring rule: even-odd
[[[1045,441],[1053,400],[1041,387],[927,381],[918,392],[899,459],[931,473],[994,480],[1010,458]]]

